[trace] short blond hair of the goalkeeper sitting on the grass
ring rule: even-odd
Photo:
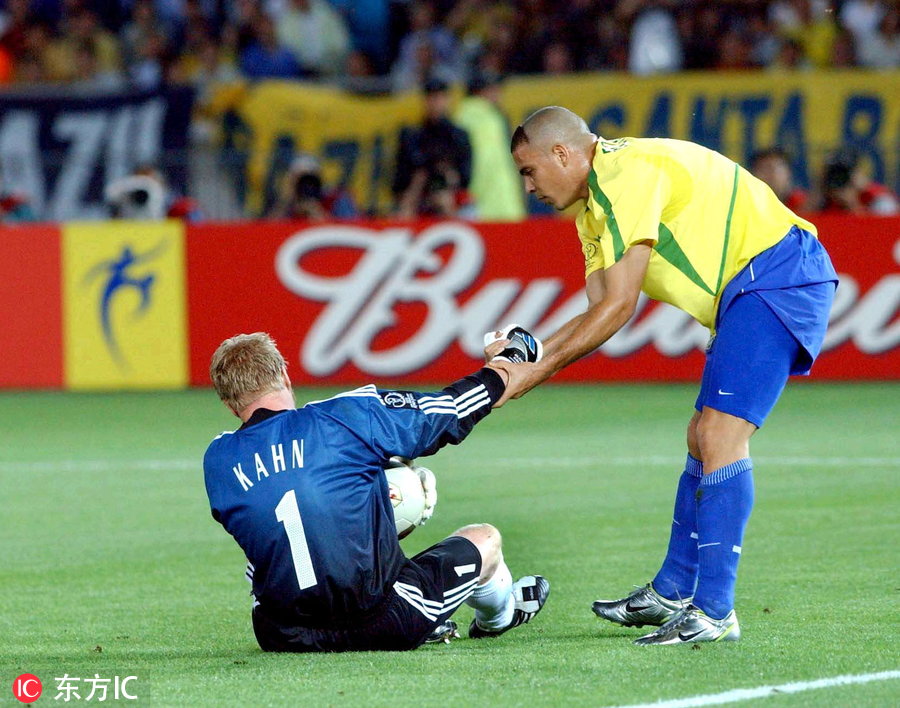
[[[213,354],[209,376],[219,398],[240,412],[261,396],[284,388],[287,362],[265,332],[226,339]]]

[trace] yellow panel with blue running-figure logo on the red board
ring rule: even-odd
[[[68,224],[62,252],[66,385],[186,385],[183,224]]]

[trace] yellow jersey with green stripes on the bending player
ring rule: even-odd
[[[683,140],[597,143],[576,225],[585,276],[654,241],[643,291],[713,329],[722,290],[751,258],[797,225],[815,227],[717,152]]]

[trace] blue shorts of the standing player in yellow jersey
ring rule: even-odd
[[[809,373],[836,283],[825,249],[799,229],[754,258],[722,294],[694,407],[761,427],[788,376]]]

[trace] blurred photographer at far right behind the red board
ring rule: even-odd
[[[822,190],[822,211],[882,216],[900,213],[897,196],[871,178],[861,155],[853,149],[838,150],[828,160]]]

